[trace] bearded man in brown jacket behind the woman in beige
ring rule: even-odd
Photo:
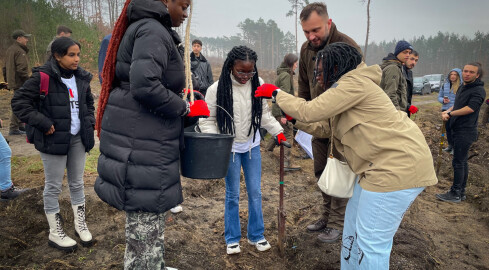
[[[312,100],[324,92],[316,82],[314,74],[318,51],[335,42],[344,42],[354,46],[358,51],[361,50],[353,39],[337,30],[336,25],[329,18],[324,3],[316,2],[307,5],[300,14],[300,20],[307,41],[302,45],[300,53],[299,97]],[[300,129],[299,126],[298,128]],[[314,175],[318,179],[326,166],[328,144],[329,139],[313,138],[312,140]],[[335,198],[324,193],[322,195],[323,215],[315,223],[308,225],[307,229],[313,232],[322,231],[318,239],[324,243],[334,243],[341,236],[348,199]]]

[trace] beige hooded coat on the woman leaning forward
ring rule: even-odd
[[[312,101],[280,91],[277,103],[293,118],[311,123],[306,130],[311,133],[323,129],[324,120],[334,116],[335,147],[360,175],[365,190],[434,185],[438,180],[423,133],[379,87],[381,76],[378,65],[361,63]]]

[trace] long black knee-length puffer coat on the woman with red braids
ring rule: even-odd
[[[119,210],[162,213],[183,201],[180,39],[161,1],[133,0],[127,16],[102,119],[95,191]]]

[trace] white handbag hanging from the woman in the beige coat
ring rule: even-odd
[[[347,162],[340,161],[333,156],[333,121],[333,119],[330,120],[331,150],[329,152],[326,168],[324,168],[321,177],[319,177],[318,186],[322,192],[330,196],[337,198],[351,198],[357,176],[351,170]]]

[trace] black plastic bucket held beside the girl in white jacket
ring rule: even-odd
[[[185,149],[180,159],[184,177],[193,179],[224,178],[228,172],[233,135],[185,132]]]

